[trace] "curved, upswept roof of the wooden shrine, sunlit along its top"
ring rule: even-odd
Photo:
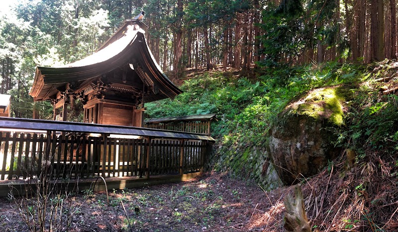
[[[110,71],[128,65],[146,87],[153,89],[147,93],[144,102],[174,99],[182,91],[161,71],[140,24],[142,22],[138,20],[127,20],[96,53],[82,60],[60,67],[37,66],[29,95],[34,101],[56,99],[59,92],[70,88],[69,84],[88,86],[91,81],[106,77]],[[77,94],[82,88],[69,89],[68,93]]]

